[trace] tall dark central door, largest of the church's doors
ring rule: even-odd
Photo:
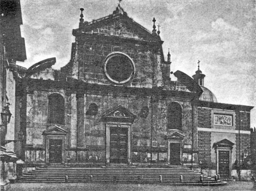
[[[128,128],[110,127],[110,162],[127,163]]]

